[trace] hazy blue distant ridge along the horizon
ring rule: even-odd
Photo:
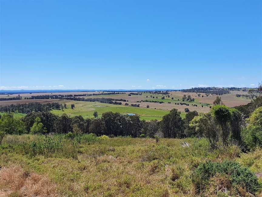
[[[180,89],[77,89],[77,90],[0,90],[0,94],[23,94],[23,93],[52,93],[52,92],[96,92],[96,91],[107,91],[107,92],[141,92],[141,91],[174,91]]]

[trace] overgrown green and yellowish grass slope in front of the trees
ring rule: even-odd
[[[173,197],[261,196],[216,174],[197,189],[201,163],[235,161],[262,173],[262,150],[211,150],[205,139],[93,137],[62,140],[53,149],[30,149],[39,135],[6,136],[0,145],[0,196]],[[50,141],[50,140],[49,140]],[[189,147],[183,147],[186,141]],[[23,143],[22,143],[23,142]],[[239,175],[240,176],[240,175]],[[262,179],[259,178],[261,183]],[[21,195],[22,194],[22,195]]]

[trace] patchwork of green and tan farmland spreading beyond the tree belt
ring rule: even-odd
[[[80,94],[101,94],[102,92],[53,92],[52,95],[80,95]],[[197,112],[208,112],[210,110],[210,106],[212,106],[213,101],[216,99],[216,95],[209,95],[206,96],[205,94],[200,94],[198,96],[197,93],[192,92],[180,92],[180,91],[171,91],[169,93],[169,97],[167,95],[162,94],[152,94],[149,92],[141,92],[142,95],[131,95],[129,96],[130,92],[124,92],[125,94],[112,94],[112,95],[91,95],[91,96],[80,96],[79,98],[109,98],[109,99],[125,99],[126,102],[122,102],[122,105],[113,105],[107,103],[99,103],[99,102],[84,102],[84,101],[72,101],[72,100],[65,100],[65,99],[32,99],[27,100],[24,99],[25,97],[31,96],[38,96],[38,95],[47,95],[51,93],[32,93],[32,94],[20,94],[22,97],[21,100],[9,100],[9,101],[0,101],[0,105],[7,106],[11,104],[22,104],[22,103],[29,103],[29,102],[39,102],[42,104],[46,104],[49,102],[59,102],[59,103],[66,103],[68,108],[62,110],[52,110],[54,114],[61,115],[62,113],[66,113],[69,116],[76,116],[82,115],[83,117],[92,117],[93,112],[97,111],[99,116],[103,112],[119,112],[121,114],[127,113],[135,113],[140,116],[141,119],[144,120],[151,120],[157,119],[161,120],[162,117],[168,113],[171,109],[178,109],[181,112],[181,117],[185,117],[184,109],[188,108],[190,111],[197,111]],[[136,93],[136,92],[135,92]],[[237,105],[245,105],[249,103],[250,99],[245,99],[242,97],[236,97],[236,94],[247,94],[246,92],[242,91],[230,91],[230,94],[221,95],[221,99],[225,105],[230,107],[237,106]],[[178,105],[182,101],[183,95],[191,95],[194,98],[194,101],[188,102],[184,101],[184,103],[189,104],[186,105]],[[202,97],[203,95],[203,97]],[[0,98],[10,98],[16,97],[18,94],[13,95],[0,95]],[[161,99],[161,97],[165,97]],[[153,98],[154,97],[154,98]],[[157,97],[157,98],[156,98]],[[173,98],[173,99],[172,99]],[[155,102],[143,102],[144,100],[148,101],[155,101]],[[163,102],[163,103],[159,103]],[[170,102],[170,103],[168,103]],[[140,107],[129,107],[125,106],[128,103],[130,106],[131,104],[139,104]],[[71,109],[70,105],[74,104],[75,108]],[[149,108],[147,108],[149,105]],[[195,105],[195,106],[193,106]],[[20,114],[20,116],[22,116]]]

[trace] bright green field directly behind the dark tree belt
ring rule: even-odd
[[[162,117],[169,113],[169,110],[160,109],[146,109],[141,107],[131,107],[124,105],[113,105],[100,102],[86,102],[86,101],[69,101],[66,103],[67,108],[62,110],[53,109],[51,112],[57,115],[62,115],[63,113],[69,116],[79,116],[82,115],[84,118],[92,118],[93,113],[96,111],[98,115],[101,116],[104,112],[119,112],[120,114],[135,113],[140,116],[142,120],[161,120]],[[70,105],[75,104],[75,108],[71,109]],[[185,112],[181,113],[181,117],[186,116]]]

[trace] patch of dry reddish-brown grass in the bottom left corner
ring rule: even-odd
[[[56,197],[56,185],[48,178],[34,173],[28,174],[19,166],[0,170],[0,196],[16,193],[18,196]]]

